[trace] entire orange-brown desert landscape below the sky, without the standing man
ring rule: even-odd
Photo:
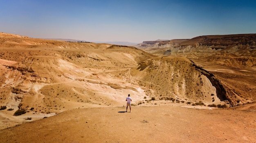
[[[0,143],[255,143],[255,79],[256,34],[126,46],[0,33]]]

